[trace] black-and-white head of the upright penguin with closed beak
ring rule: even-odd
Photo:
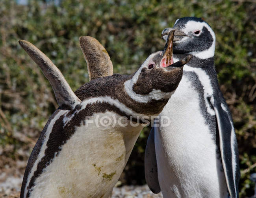
[[[174,54],[193,54],[201,59],[214,56],[215,34],[210,25],[201,18],[184,17],[176,20],[173,27],[162,31],[162,38],[167,40],[172,30],[175,30]]]

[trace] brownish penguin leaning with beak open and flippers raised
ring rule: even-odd
[[[48,78],[59,104],[28,160],[20,197],[108,198],[143,124],[161,112],[191,56],[163,68],[169,45],[134,74],[93,74],[74,93],[45,54],[24,40],[19,44]]]

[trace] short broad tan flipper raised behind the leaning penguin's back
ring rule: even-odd
[[[87,62],[89,80],[113,75],[113,64],[106,49],[91,36],[79,38],[80,48]]]

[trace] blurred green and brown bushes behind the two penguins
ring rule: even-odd
[[[215,31],[215,65],[236,128],[240,196],[254,194],[256,172],[255,0],[0,0],[0,189],[20,182],[28,157],[58,107],[50,84],[19,46],[24,39],[43,51],[73,90],[89,81],[78,45],[95,37],[109,53],[114,73],[131,74],[163,50],[161,31],[184,16],[201,17]],[[145,184],[144,128],[119,185]],[[17,180],[16,180],[17,179]]]

